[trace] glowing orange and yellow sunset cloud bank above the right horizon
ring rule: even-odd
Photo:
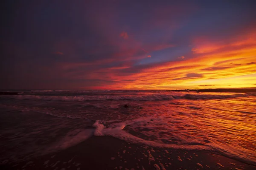
[[[109,78],[119,82],[120,89],[253,86],[256,82],[256,34],[251,33],[226,40],[228,43],[224,42],[197,42],[192,45],[194,54],[187,60],[141,65],[134,74],[111,72]],[[108,88],[114,89],[116,86],[109,85]]]

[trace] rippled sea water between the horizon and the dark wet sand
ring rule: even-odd
[[[0,161],[110,135],[152,146],[213,150],[256,164],[255,93],[19,92],[0,96]]]

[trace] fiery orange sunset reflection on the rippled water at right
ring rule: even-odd
[[[143,110],[154,121],[139,120],[128,129],[165,144],[185,148],[197,145],[250,163],[256,160],[256,96],[218,99],[220,95],[233,94],[186,95],[205,99],[143,102]]]

